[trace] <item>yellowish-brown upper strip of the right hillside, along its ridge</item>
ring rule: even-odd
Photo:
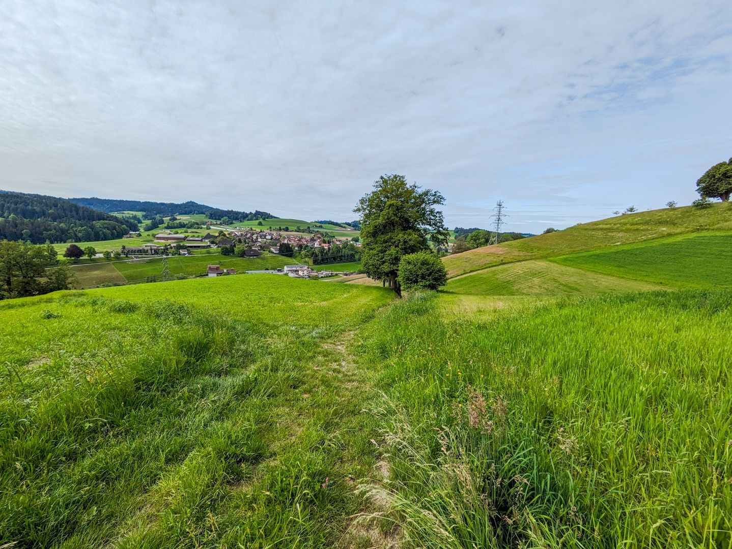
[[[605,246],[647,241],[702,230],[732,230],[732,204],[712,208],[665,208],[569,227],[498,246],[486,246],[444,258],[448,276],[458,276],[505,262],[541,259]]]

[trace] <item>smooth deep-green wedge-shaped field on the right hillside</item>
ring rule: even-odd
[[[732,232],[681,235],[553,261],[670,287],[732,288]]]

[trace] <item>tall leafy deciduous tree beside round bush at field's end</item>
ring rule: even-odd
[[[397,279],[403,256],[447,242],[449,232],[436,206],[444,197],[431,189],[407,183],[403,175],[382,175],[374,190],[354,208],[361,222],[361,265],[372,279],[389,284],[401,297]]]

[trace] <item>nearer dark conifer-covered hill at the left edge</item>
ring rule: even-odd
[[[41,244],[108,241],[138,230],[137,222],[63,198],[0,191],[0,240]]]

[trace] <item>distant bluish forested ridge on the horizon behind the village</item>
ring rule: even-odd
[[[269,219],[274,217],[272,213],[255,210],[237,211],[222,210],[205,204],[198,204],[189,200],[188,202],[149,202],[141,200],[113,200],[108,198],[70,198],[76,204],[94,208],[96,210],[112,213],[116,211],[142,211],[145,219],[152,219],[155,216],[176,216],[202,214],[209,219],[222,219],[228,217],[232,221],[256,221],[257,219]]]

